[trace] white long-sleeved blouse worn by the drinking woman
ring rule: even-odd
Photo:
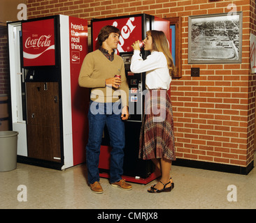
[[[146,89],[166,89],[169,90],[171,76],[167,66],[166,57],[162,52],[153,51],[147,59],[143,61],[138,49],[134,50],[131,57],[131,72],[146,72],[145,87]]]

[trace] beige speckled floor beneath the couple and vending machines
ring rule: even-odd
[[[255,168],[245,176],[173,166],[175,188],[161,194],[146,192],[156,180],[132,183],[133,190],[125,191],[106,178],[100,180],[104,193],[94,194],[85,176],[85,164],[57,171],[18,163],[17,169],[0,172],[0,208],[256,208]],[[18,201],[26,198],[24,188],[27,201]]]

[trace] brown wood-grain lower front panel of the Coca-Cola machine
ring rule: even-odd
[[[61,162],[59,84],[27,82],[28,156]]]

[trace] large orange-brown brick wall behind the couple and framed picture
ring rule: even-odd
[[[188,16],[243,11],[242,63],[187,63]],[[28,17],[70,15],[88,20],[147,13],[182,17],[182,79],[171,83],[178,158],[246,167],[253,160],[255,75],[250,74],[250,32],[255,33],[255,1],[208,0],[28,0]],[[190,77],[192,67],[200,77]]]

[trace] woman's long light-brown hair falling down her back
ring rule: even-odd
[[[173,63],[173,57],[171,56],[171,52],[169,49],[169,43],[164,35],[164,32],[157,30],[147,31],[147,36],[152,37],[152,50],[162,52],[166,57],[167,65],[169,68],[169,74],[171,77],[176,77],[177,69]]]

